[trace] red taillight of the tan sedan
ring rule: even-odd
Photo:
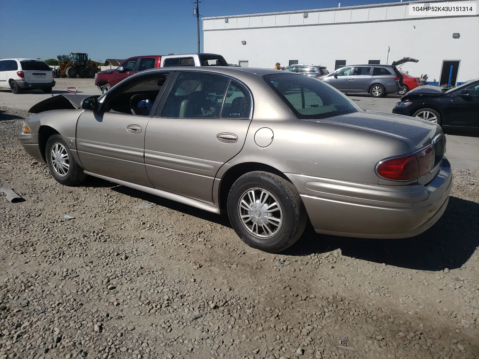
[[[418,178],[433,169],[433,146],[427,146],[409,155],[386,158],[376,165],[379,177],[395,181]]]

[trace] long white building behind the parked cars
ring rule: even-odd
[[[456,0],[477,8],[479,0]],[[427,2],[447,6],[452,1]],[[423,1],[203,18],[204,51],[228,63],[273,68],[276,62],[323,65],[419,59],[400,69],[428,81],[479,78],[479,15],[410,15]],[[389,50],[388,50],[389,49]],[[372,61],[372,62],[371,62]],[[456,75],[456,76],[455,76]],[[454,81],[453,81],[454,82]]]

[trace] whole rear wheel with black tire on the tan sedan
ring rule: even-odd
[[[228,217],[248,246],[276,253],[303,234],[308,216],[295,186],[273,173],[254,171],[233,183]]]

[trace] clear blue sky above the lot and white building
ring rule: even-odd
[[[200,15],[337,7],[339,0],[204,0]],[[389,0],[341,0],[341,7]],[[92,60],[196,52],[193,0],[0,0],[0,58],[42,60],[87,52]],[[201,21],[200,21],[200,36]]]

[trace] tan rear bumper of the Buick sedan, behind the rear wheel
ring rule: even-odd
[[[424,232],[444,213],[452,184],[446,158],[438,175],[425,186],[287,176],[317,233],[364,238],[406,238]]]

